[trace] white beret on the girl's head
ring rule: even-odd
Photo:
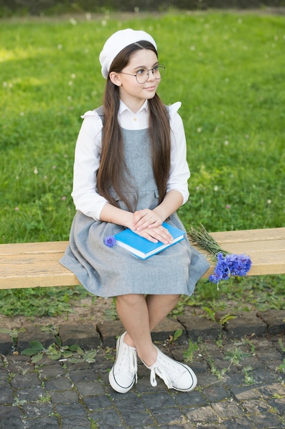
[[[118,53],[128,45],[139,42],[140,40],[146,40],[147,42],[152,43],[154,48],[157,50],[157,44],[154,42],[152,36],[143,30],[134,30],[131,28],[120,29],[109,37],[99,56],[99,61],[102,66],[101,72],[105,79],[107,79],[111,63]]]

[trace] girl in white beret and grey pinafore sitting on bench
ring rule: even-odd
[[[72,197],[77,213],[62,265],[100,297],[116,297],[126,330],[109,372],[114,390],[137,382],[137,356],[168,388],[191,391],[197,379],[187,365],[165,356],[150,332],[191,295],[208,261],[187,239],[141,260],[105,238],[131,228],[156,243],[172,243],[163,221],[185,230],[176,210],[189,197],[185,132],[180,103],[165,106],[157,87],[165,67],[144,31],[113,34],[100,53],[107,79],[103,107],[86,112],[75,149]],[[174,82],[175,84],[175,82]]]

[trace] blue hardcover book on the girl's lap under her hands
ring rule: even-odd
[[[185,238],[184,231],[179,230],[166,222],[163,222],[163,226],[164,228],[167,228],[170,234],[172,234],[173,241],[171,244],[163,244],[161,241],[152,243],[152,241],[148,241],[146,238],[137,235],[135,232],[127,228],[115,235],[116,245],[124,247],[124,249],[128,250],[138,258],[147,259]]]

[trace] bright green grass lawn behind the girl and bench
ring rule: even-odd
[[[166,66],[159,94],[167,104],[182,101],[191,169],[190,199],[179,210],[186,228],[284,226],[284,16],[11,19],[0,26],[0,243],[68,239],[80,115],[100,105],[98,54],[124,27],[154,36]],[[217,293],[202,281],[187,303],[214,308],[237,294],[243,305],[245,291],[245,305],[275,308],[279,299],[282,308],[282,286],[284,276],[248,278]]]

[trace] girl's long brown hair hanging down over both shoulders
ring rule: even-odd
[[[141,40],[122,49],[113,60],[110,71],[120,73],[131,59],[131,55],[138,49],[150,49],[157,55],[157,50],[150,42]],[[152,143],[152,169],[154,179],[159,190],[159,202],[163,200],[166,193],[167,180],[170,168],[170,125],[169,113],[157,94],[148,100],[149,123],[148,133]],[[118,207],[118,202],[110,193],[110,188],[126,204],[128,210],[133,211],[130,201],[122,195],[122,189],[129,188],[125,183],[124,171],[124,144],[122,133],[118,123],[118,110],[120,107],[119,87],[113,84],[107,77],[105,95],[103,100],[104,126],[102,136],[102,149],[100,156],[100,167],[97,173],[97,186],[100,195],[103,195],[110,204]]]

